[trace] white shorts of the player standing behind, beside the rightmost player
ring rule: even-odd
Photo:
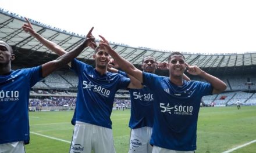
[[[130,150],[129,153],[151,153],[152,146],[150,139],[152,128],[145,126],[143,128],[131,129]]]

